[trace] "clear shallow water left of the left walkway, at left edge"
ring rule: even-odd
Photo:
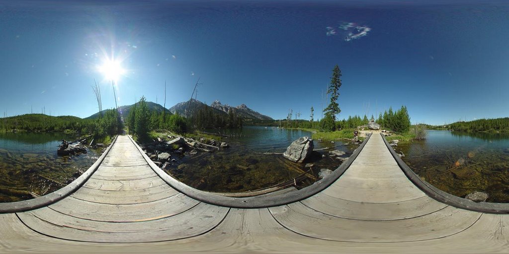
[[[64,133],[0,133],[0,202],[32,199],[30,192],[44,195],[59,189],[87,170],[97,154],[58,156]]]

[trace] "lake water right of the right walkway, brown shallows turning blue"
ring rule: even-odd
[[[426,140],[400,142],[397,151],[420,177],[465,197],[476,190],[487,202],[509,203],[509,134],[428,131]]]

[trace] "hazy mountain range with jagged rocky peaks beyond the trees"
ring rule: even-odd
[[[136,104],[138,104],[138,103],[136,103]],[[124,117],[127,117],[131,107],[133,107],[133,106],[134,106],[134,104],[120,106],[119,111],[122,112],[122,115]],[[149,111],[157,110],[157,112],[162,112],[164,110],[163,106],[161,106],[159,104],[155,104],[153,102],[147,102],[147,106],[149,108]],[[232,107],[228,104],[223,105],[223,104],[221,104],[221,102],[219,102],[217,100],[215,102],[213,102],[210,106],[208,106],[207,104],[205,104],[203,102],[191,99],[190,101],[187,101],[187,102],[177,103],[173,107],[169,108],[169,110],[168,109],[166,109],[166,110],[169,113],[173,113],[173,114],[178,113],[179,115],[185,116],[188,111],[188,108],[190,108],[191,112],[192,112],[194,109],[196,111],[198,111],[204,107],[208,107],[210,110],[212,110],[213,112],[215,112],[217,114],[228,114],[230,111],[233,111],[238,116],[241,116],[244,119],[273,120],[270,116],[266,116],[266,115],[263,115],[257,111],[254,111],[254,110],[248,108],[245,104],[241,104],[237,107]],[[104,111],[105,110],[103,110],[103,112]],[[98,117],[99,117],[99,112],[87,117],[86,119],[98,118]]]

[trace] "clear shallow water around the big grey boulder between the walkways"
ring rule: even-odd
[[[217,130],[209,132],[217,133]],[[168,172],[184,183],[202,190],[243,192],[292,180],[304,172],[307,172],[307,177],[299,186],[307,186],[316,181],[320,169],[335,170],[341,165],[340,161],[329,156],[322,158],[321,154],[328,154],[327,150],[317,152],[307,162],[314,164],[310,171],[304,168],[305,163],[292,163],[281,154],[261,154],[282,153],[296,139],[303,136],[311,137],[310,132],[246,126],[242,130],[221,130],[220,134],[229,136],[223,138],[223,141],[227,142],[230,148],[213,153],[199,152],[196,155],[186,155]],[[351,155],[358,147],[358,145],[345,146],[341,141],[320,143],[315,140],[314,144],[315,149],[338,145],[333,149],[343,150],[347,155]]]

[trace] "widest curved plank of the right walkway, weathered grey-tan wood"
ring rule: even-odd
[[[472,226],[480,213],[446,207],[415,218],[371,221],[333,217],[302,203],[269,208],[284,227],[302,235],[333,241],[405,242],[437,239]]]

